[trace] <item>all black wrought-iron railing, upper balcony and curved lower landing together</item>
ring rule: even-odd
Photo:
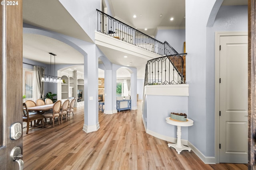
[[[100,10],[97,10],[97,19],[98,32],[159,55],[166,55],[147,62],[145,85],[185,83],[183,56],[186,53],[178,54],[166,41],[162,43]]]

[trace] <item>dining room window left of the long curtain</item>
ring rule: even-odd
[[[30,100],[33,98],[33,74],[33,70],[23,69],[22,95],[26,95],[26,99]]]

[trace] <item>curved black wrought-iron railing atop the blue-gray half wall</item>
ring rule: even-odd
[[[149,60],[146,64],[144,86],[186,83],[183,78],[185,55],[186,53],[168,55]]]

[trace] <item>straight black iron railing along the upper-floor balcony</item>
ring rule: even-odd
[[[97,10],[97,31],[159,55],[178,54],[167,42],[160,42],[137,29]]]

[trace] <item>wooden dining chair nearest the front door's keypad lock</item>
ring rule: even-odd
[[[23,116],[22,116],[22,120],[24,122],[27,122],[27,132],[26,134],[28,134],[29,128],[33,128],[32,126],[32,121],[36,121],[36,120],[40,120],[41,124],[36,126],[36,123],[34,123],[34,128],[35,127],[42,127],[44,125],[44,116],[40,115],[40,114],[29,114],[28,112],[28,107],[26,105],[26,103],[23,103]],[[31,122],[31,125],[30,125]]]

